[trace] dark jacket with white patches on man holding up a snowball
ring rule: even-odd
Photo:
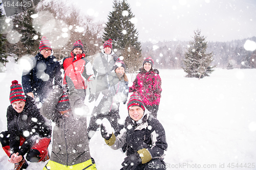
[[[124,128],[116,137],[116,141],[110,147],[114,150],[121,148],[124,143],[128,145],[126,155],[137,153],[141,149],[150,152],[152,159],[164,158],[167,150],[165,131],[161,123],[154,117],[145,113],[142,123],[137,124],[130,116],[125,119]]]

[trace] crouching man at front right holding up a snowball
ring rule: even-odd
[[[101,136],[113,150],[126,147],[122,169],[149,170],[166,169],[163,161],[168,144],[162,124],[150,116],[138,93],[133,93],[127,103],[128,115],[124,128],[116,136],[111,124],[103,121],[100,125]]]

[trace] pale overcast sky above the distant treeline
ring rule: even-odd
[[[79,3],[78,3],[79,2]],[[200,29],[206,41],[256,36],[255,0],[128,0],[137,18],[139,40],[190,40]],[[96,20],[108,21],[113,1],[76,1]],[[74,2],[72,1],[72,4]]]

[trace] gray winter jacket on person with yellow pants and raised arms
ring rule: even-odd
[[[72,109],[70,116],[64,117],[59,114],[56,105],[62,92],[61,88],[56,87],[41,107],[40,112],[56,124],[53,130],[51,160],[71,166],[91,159],[87,137],[87,120],[86,116],[74,114],[75,108],[84,106],[75,88],[70,89],[68,95]]]

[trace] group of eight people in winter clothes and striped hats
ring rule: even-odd
[[[111,39],[91,64],[80,40],[74,43],[70,57],[57,61],[50,41],[42,37],[39,53],[32,60],[34,67],[23,71],[22,85],[12,81],[7,131],[0,134],[14,170],[26,169],[27,161],[49,159],[44,170],[96,169],[89,142],[98,128],[106,144],[126,152],[122,169],[166,169],[165,132],[157,120],[161,78],[151,57],[144,59],[131,87],[125,63],[114,53]],[[88,102],[95,100],[95,106],[87,128],[89,109],[84,100],[88,87]],[[127,103],[129,113],[124,124],[119,122],[120,103]],[[103,118],[108,122],[102,122]]]

